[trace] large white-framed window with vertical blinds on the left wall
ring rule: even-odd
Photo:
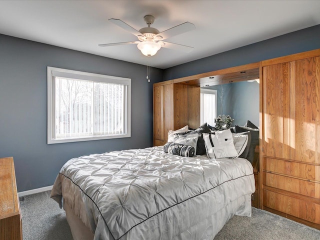
[[[130,137],[131,79],[47,67],[47,143]]]

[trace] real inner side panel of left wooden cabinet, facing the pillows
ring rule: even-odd
[[[179,129],[188,124],[188,86],[173,84],[173,128]]]

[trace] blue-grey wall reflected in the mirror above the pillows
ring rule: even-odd
[[[259,125],[258,79],[201,87],[201,89],[203,88],[216,90],[216,116],[219,114],[230,115],[234,118],[232,126],[243,126],[247,120],[256,126]],[[208,124],[210,124],[209,121]]]

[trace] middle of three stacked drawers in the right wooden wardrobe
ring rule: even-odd
[[[264,172],[263,184],[305,196],[320,197],[320,183],[316,182]]]

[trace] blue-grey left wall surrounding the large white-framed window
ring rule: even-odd
[[[131,78],[131,137],[46,144],[46,66]],[[52,185],[70,158],[152,145],[150,68],[0,34],[0,157],[13,156],[18,191]]]

